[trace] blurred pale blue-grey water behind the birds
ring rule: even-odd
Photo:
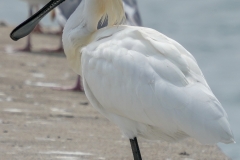
[[[208,84],[228,113],[237,142],[219,144],[219,147],[230,158],[239,160],[240,1],[138,0],[138,4],[145,27],[178,41],[198,61]],[[26,3],[0,0],[0,21],[14,26],[26,17]],[[58,26],[49,16],[41,24]]]

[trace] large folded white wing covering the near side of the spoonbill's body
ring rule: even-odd
[[[99,31],[82,50],[83,78],[96,108],[173,138],[184,131],[202,143],[228,140],[227,115],[189,52],[151,29],[113,30]]]

